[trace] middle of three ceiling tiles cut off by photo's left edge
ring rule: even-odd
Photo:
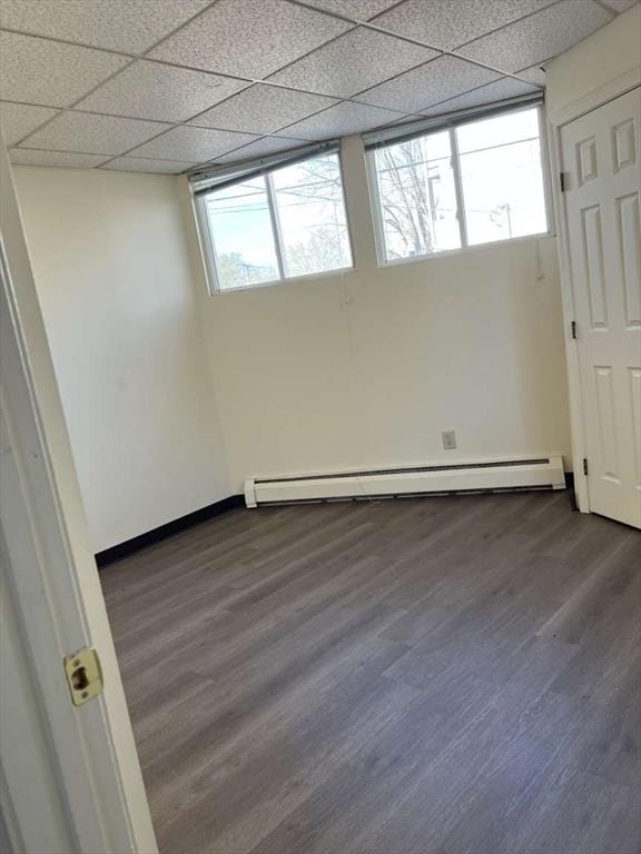
[[[0,100],[68,107],[127,63],[125,57],[0,32]]]

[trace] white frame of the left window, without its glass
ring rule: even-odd
[[[200,241],[200,254],[203,256],[203,264],[205,267],[205,275],[207,279],[207,290],[209,292],[209,296],[219,296],[221,294],[236,294],[238,291],[243,290],[256,290],[257,288],[268,288],[273,287],[274,285],[290,285],[298,281],[308,281],[313,279],[323,279],[327,278],[328,276],[344,276],[346,274],[353,272],[355,269],[354,264],[354,247],[352,242],[352,228],[349,225],[349,210],[347,205],[347,198],[345,193],[345,181],[343,179],[343,152],[341,147],[338,147],[335,151],[316,151],[309,157],[304,158],[296,158],[293,162],[305,162],[307,160],[315,160],[320,157],[327,157],[328,155],[336,155],[336,158],[338,160],[338,170],[341,173],[341,189],[343,192],[343,210],[345,214],[345,227],[347,229],[347,247],[349,250],[349,265],[346,267],[335,267],[332,270],[319,270],[318,272],[307,272],[307,274],[300,274],[298,276],[287,276],[287,262],[285,257],[285,249],[283,244],[283,231],[280,226],[280,218],[278,215],[278,207],[276,203],[276,190],[274,188],[274,183],[272,180],[272,176],[274,172],[278,171],[279,169],[286,169],[292,165],[290,161],[283,161],[278,162],[274,166],[266,166],[264,169],[256,169],[255,172],[253,172],[253,177],[263,177],[265,179],[265,191],[267,195],[267,206],[269,211],[269,222],[272,227],[272,238],[274,240],[274,248],[276,252],[276,264],[278,267],[278,278],[275,279],[268,279],[266,281],[258,281],[254,282],[252,285],[240,285],[238,287],[234,288],[221,288],[219,278],[218,278],[218,252],[216,250],[216,240],[214,238],[211,225],[209,222],[209,217],[207,216],[207,208],[206,208],[206,199],[207,193],[199,193],[198,196],[193,196],[193,205],[194,210],[196,215],[196,222],[197,222],[197,230],[198,230],[198,237]],[[229,181],[228,186],[234,186],[235,183],[243,183],[247,180],[247,177],[238,178],[237,181]],[[211,188],[211,191],[216,191],[216,187]]]

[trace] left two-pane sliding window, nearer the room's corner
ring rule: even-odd
[[[336,152],[214,188],[198,200],[216,290],[352,266]]]

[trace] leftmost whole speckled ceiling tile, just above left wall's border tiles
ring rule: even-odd
[[[121,155],[170,127],[156,121],[63,112],[28,137],[22,147],[87,155]]]

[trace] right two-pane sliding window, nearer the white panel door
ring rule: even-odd
[[[389,142],[371,157],[387,262],[548,231],[539,107]]]

